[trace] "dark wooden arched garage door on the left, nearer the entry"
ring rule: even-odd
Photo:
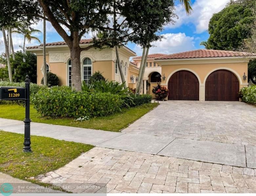
[[[168,82],[169,100],[199,100],[199,81],[189,71],[174,73]]]

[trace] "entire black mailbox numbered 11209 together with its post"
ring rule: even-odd
[[[0,100],[18,101],[25,102],[25,119],[24,119],[24,147],[23,152],[31,151],[30,141],[30,79],[26,75],[25,88],[23,87],[0,87]],[[20,105],[20,104],[19,104]]]

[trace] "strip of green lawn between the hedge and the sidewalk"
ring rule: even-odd
[[[89,121],[76,122],[71,118],[41,118],[40,114],[30,107],[30,118],[32,122],[58,124],[66,126],[74,126],[89,129],[100,129],[105,131],[120,131],[133,123],[141,116],[158,106],[157,103],[144,104],[130,109],[123,109],[122,112],[105,117],[95,117]],[[23,121],[25,117],[25,108],[17,104],[2,104],[0,105],[0,118],[14,119]]]

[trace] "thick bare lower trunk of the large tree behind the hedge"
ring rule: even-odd
[[[82,82],[81,82],[81,64],[80,64],[80,47],[73,46],[70,47],[70,57],[71,57],[71,82],[72,89],[81,91],[82,90]]]

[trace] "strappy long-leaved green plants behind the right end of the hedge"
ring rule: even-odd
[[[132,92],[129,88],[124,88],[124,84],[120,84],[115,81],[95,81],[90,85],[86,85],[85,82],[82,83],[82,90],[87,92],[101,92],[110,93],[114,95],[119,95],[123,100],[123,107],[130,107],[134,105]]]

